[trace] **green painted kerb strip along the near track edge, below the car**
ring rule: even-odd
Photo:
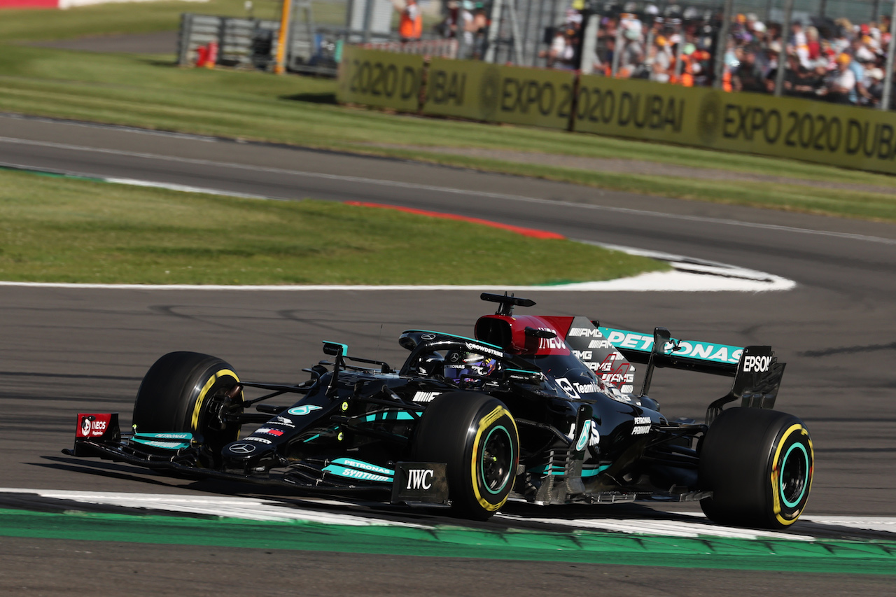
[[[343,526],[0,509],[0,536],[659,567],[896,575],[896,541],[748,541],[610,532]]]

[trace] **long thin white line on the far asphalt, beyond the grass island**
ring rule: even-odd
[[[179,158],[175,156],[168,155],[160,155],[156,153],[143,153],[139,151],[119,151],[119,150],[109,150],[98,147],[87,147],[84,145],[72,145],[69,143],[53,143],[48,141],[31,141],[30,139],[17,139],[14,137],[4,137],[0,136],[0,143],[12,143],[12,144],[22,144],[22,145],[35,145],[40,147],[52,147],[55,149],[64,149],[71,151],[90,151],[94,153],[108,153],[113,155],[125,155],[134,158],[143,158],[146,160],[163,160],[163,161],[177,161],[188,164],[197,164],[201,166],[219,166],[228,169],[245,169],[252,170],[255,172],[271,172],[277,174],[289,174],[292,176],[298,177],[309,177],[309,178],[323,178],[327,180],[341,180],[346,182],[359,182],[364,183],[366,185],[379,185],[379,186],[392,186],[397,188],[409,188],[421,191],[434,191],[437,193],[452,193],[455,195],[476,195],[480,197],[492,197],[495,199],[506,199],[509,201],[518,201],[525,203],[540,203],[547,205],[564,205],[565,207],[574,207],[580,209],[587,210],[597,210],[602,212],[616,212],[616,213],[630,213],[633,215],[643,216],[643,217],[652,217],[652,218],[665,218],[669,220],[681,220],[681,221],[697,221],[702,223],[711,223],[711,224],[722,224],[726,226],[737,226],[741,228],[753,228],[753,229],[766,229],[766,230],[780,230],[782,232],[788,233],[797,233],[797,234],[810,234],[816,236],[823,237],[833,237],[833,238],[849,238],[852,240],[861,240],[865,242],[873,242],[873,243],[881,243],[883,245],[896,245],[896,238],[882,238],[882,237],[872,237],[866,236],[863,234],[851,234],[848,232],[834,232],[831,230],[814,230],[814,229],[805,229],[805,228],[796,228],[792,226],[780,226],[778,224],[761,224],[757,222],[747,222],[747,221],[737,221],[737,220],[727,220],[722,218],[707,218],[703,216],[693,216],[693,215],[682,215],[676,213],[665,213],[665,212],[650,212],[647,210],[634,210],[626,207],[611,207],[608,205],[594,205],[591,203],[572,203],[566,201],[554,201],[549,199],[538,199],[535,197],[526,197],[522,195],[508,195],[504,193],[486,193],[482,191],[470,191],[459,188],[452,188],[449,186],[435,186],[435,185],[421,185],[418,183],[403,183],[396,182],[392,180],[381,180],[378,178],[366,178],[366,177],[351,177],[346,175],[337,175],[337,174],[323,174],[320,172],[307,172],[304,170],[293,170],[293,169],[281,169],[281,168],[271,168],[271,167],[263,167],[263,166],[247,166],[246,164],[237,164],[232,162],[224,162],[224,161],[213,161],[213,160],[198,160],[194,158]],[[94,176],[94,175],[87,175]]]

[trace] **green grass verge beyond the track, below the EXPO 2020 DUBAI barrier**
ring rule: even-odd
[[[256,1],[256,15],[264,16],[263,11],[272,11],[274,4],[277,3],[273,0]],[[343,10],[339,4],[320,4],[331,11]],[[129,17],[129,11],[134,15]],[[209,4],[108,4],[59,12],[4,11],[0,40],[37,39],[41,35],[58,38],[87,31],[172,29],[184,11],[238,14],[244,9],[240,0],[213,0]],[[46,24],[33,16],[37,13],[49,15]],[[16,26],[17,22],[21,26]],[[896,177],[892,176],[592,134],[344,108],[332,103],[336,86],[330,80],[179,68],[173,65],[173,52],[174,48],[165,56],[133,56],[0,46],[0,111],[386,155],[647,195],[896,221]],[[432,151],[376,144],[423,145]],[[630,175],[473,158],[439,152],[440,147],[646,160],[796,181],[781,185]],[[800,179],[874,185],[888,190],[831,190],[801,185]]]

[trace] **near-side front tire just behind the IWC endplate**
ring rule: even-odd
[[[414,458],[447,463],[452,508],[486,520],[507,501],[520,461],[520,439],[504,402],[454,392],[430,402],[414,436]]]

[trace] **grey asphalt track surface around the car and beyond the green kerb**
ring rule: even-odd
[[[761,294],[533,292],[530,298],[538,312],[587,315],[622,329],[664,325],[676,337],[771,344],[788,362],[777,408],[806,420],[814,436],[807,515],[892,516],[896,510],[896,226],[6,116],[0,116],[0,164],[282,199],[391,203],[797,281],[795,290]],[[322,358],[322,339],[397,365],[404,350],[395,341],[403,329],[470,334],[476,317],[489,310],[469,291],[0,287],[0,296],[0,485],[174,494],[234,488],[66,457],[59,450],[72,443],[74,413],[120,411],[127,425],[143,373],[169,350],[220,356],[244,378],[293,381]],[[668,415],[700,419],[727,383],[661,370],[651,395]],[[655,516],[654,510],[607,506],[595,515]],[[694,506],[659,508],[659,515],[680,510]],[[805,524],[798,522],[794,532],[804,532]],[[650,561],[620,567],[9,538],[0,539],[0,558],[0,588],[31,594],[67,594],[74,587],[91,593],[126,587],[133,594],[217,594],[221,587],[244,594],[892,594],[890,576],[691,570],[650,567]]]

